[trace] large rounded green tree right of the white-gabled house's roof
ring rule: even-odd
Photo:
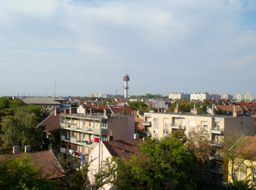
[[[140,145],[141,155],[132,161],[132,175],[136,180],[148,182],[150,189],[164,189],[166,183],[178,189],[195,189],[195,181],[188,174],[194,169],[193,157],[182,141],[175,138],[147,138]],[[173,187],[174,189],[174,187]]]

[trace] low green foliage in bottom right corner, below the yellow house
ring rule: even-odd
[[[233,182],[227,182],[222,185],[223,190],[251,190],[254,189],[255,184],[250,184],[250,180],[237,180],[233,179]]]

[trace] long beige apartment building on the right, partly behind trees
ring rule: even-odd
[[[204,170],[195,170],[196,179],[200,176],[205,183],[220,185],[223,182],[223,155],[219,154],[218,148],[221,141],[234,134],[255,135],[255,119],[251,116],[239,116],[238,111],[233,111],[232,116],[198,114],[197,109],[191,113],[181,113],[179,108],[174,113],[145,113],[145,134],[152,138],[164,138],[172,131],[181,127],[189,138],[193,138],[192,131],[196,126],[204,127],[209,131],[212,146],[216,152],[212,153],[209,160],[205,162]]]

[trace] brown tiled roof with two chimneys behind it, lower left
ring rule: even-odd
[[[14,158],[22,158],[26,153],[19,154],[1,154],[0,159],[5,159],[8,157],[9,159]],[[40,152],[28,152],[29,157],[34,159],[34,167],[43,166],[42,167],[42,177],[47,177],[51,175],[49,178],[60,178],[65,177],[64,171],[61,168],[58,161],[56,161],[51,150],[45,150]]]

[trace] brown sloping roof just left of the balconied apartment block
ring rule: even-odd
[[[54,113],[52,113],[50,116],[48,116],[43,122],[41,122],[39,125],[37,125],[38,128],[42,128],[44,131],[54,131],[60,127],[60,115],[63,112],[57,113],[55,116]]]

